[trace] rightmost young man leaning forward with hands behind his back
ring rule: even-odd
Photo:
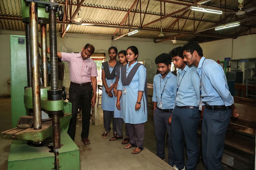
[[[196,42],[183,46],[184,61],[196,66],[200,76],[199,109],[203,110],[202,154],[206,170],[222,170],[222,156],[226,130],[231,113],[238,117],[226,75],[217,62],[203,57],[203,50]],[[204,108],[202,105],[204,104]]]

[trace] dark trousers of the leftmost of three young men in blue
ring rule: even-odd
[[[164,113],[158,108],[154,112],[154,125],[156,134],[156,155],[159,158],[165,157],[165,132],[168,133],[168,163],[173,166],[173,149],[172,149],[172,135],[171,125],[168,124],[168,119],[171,113]]]

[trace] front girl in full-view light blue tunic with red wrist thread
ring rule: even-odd
[[[130,46],[126,50],[129,64],[121,68],[117,90],[116,107],[122,109],[125,127],[130,143],[124,149],[136,147],[132,154],[138,154],[144,147],[144,128],[147,121],[147,84],[146,68],[137,62],[139,52],[137,47]],[[145,94],[146,93],[146,94]],[[122,108],[120,98],[122,96]]]

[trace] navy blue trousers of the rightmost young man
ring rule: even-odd
[[[222,170],[222,156],[231,109],[212,111],[204,108],[202,154],[205,170]]]

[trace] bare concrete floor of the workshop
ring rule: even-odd
[[[0,99],[0,132],[11,129],[11,99]],[[81,170],[156,170],[170,169],[166,162],[158,158],[156,153],[156,139],[154,132],[152,106],[149,107],[148,121],[145,124],[145,143],[144,150],[137,155],[131,154],[132,149],[123,149],[122,140],[109,141],[111,134],[102,138],[103,128],[103,113],[101,107],[95,107],[95,123],[90,121],[89,139],[90,145],[83,145],[81,141],[82,122],[77,121],[77,131],[75,143],[80,148],[80,166]],[[0,139],[0,169],[7,169],[8,156],[10,151],[11,140]],[[167,153],[167,148],[166,148]],[[166,155],[166,158],[168,156]],[[200,160],[197,170],[203,170],[202,160]]]

